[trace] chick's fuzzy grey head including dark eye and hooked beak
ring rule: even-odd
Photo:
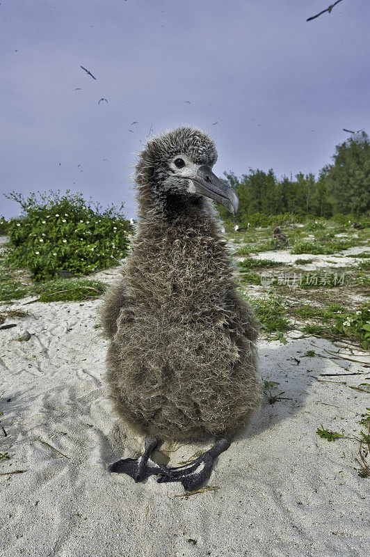
[[[212,172],[217,151],[214,141],[204,132],[178,127],[150,139],[139,157],[136,182],[142,194],[149,186],[162,199],[205,196],[236,214],[239,197]]]

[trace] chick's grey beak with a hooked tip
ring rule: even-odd
[[[193,182],[192,193],[214,199],[217,203],[224,205],[235,217],[239,209],[239,196],[232,187],[217,178],[210,166],[202,164],[196,173],[188,178]]]

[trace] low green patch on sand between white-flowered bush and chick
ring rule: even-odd
[[[38,283],[33,288],[33,292],[40,294],[38,301],[84,301],[104,294],[106,285],[101,281],[88,278],[62,278]]]

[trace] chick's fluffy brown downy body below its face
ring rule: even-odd
[[[115,411],[163,440],[230,435],[259,406],[258,324],[237,295],[211,202],[168,212],[143,173],[145,157],[136,167],[138,231],[102,311]]]

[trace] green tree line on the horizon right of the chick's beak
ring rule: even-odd
[[[370,210],[370,142],[366,133],[335,147],[333,163],[314,174],[298,173],[280,180],[273,169],[267,172],[250,168],[248,174],[236,177],[225,173],[225,180],[239,194],[236,221],[243,223],[255,213],[312,214],[332,217],[337,213],[360,216]],[[223,207],[223,219],[230,218]]]

